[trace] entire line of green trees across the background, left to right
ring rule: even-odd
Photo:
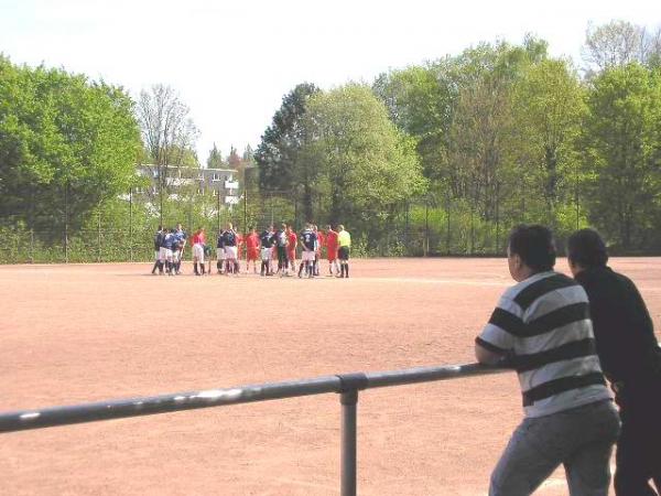
[[[104,226],[130,218],[145,233],[159,222],[214,225],[218,197],[178,187],[173,200],[167,181],[199,166],[197,138],[166,85],[133,99],[121,86],[0,54],[1,228],[47,244],[100,230],[101,214]],[[254,152],[223,157],[214,144],[204,163],[240,171],[250,223],[342,222],[368,252],[392,234],[392,252],[407,252],[411,234],[425,252],[502,252],[501,233],[521,222],[561,237],[592,225],[621,252],[659,252],[661,31],[589,28],[581,65],[529,35],[371,84],[302,83]],[[155,190],[137,164],[153,169]]]

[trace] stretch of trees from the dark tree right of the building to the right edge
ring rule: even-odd
[[[621,251],[658,251],[660,91],[660,31],[622,21],[588,30],[582,67],[529,35],[371,85],[305,83],[257,149],[260,185],[373,236],[424,204],[460,231],[593,225]]]

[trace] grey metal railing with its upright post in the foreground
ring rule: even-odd
[[[340,494],[342,496],[355,496],[358,391],[481,376],[505,370],[507,368],[479,364],[419,367],[403,370],[339,374],[284,382],[20,410],[0,413],[0,432],[336,392],[340,395],[342,405]]]

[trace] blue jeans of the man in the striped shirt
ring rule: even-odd
[[[570,495],[607,496],[619,427],[609,400],[524,419],[491,474],[489,495],[528,496],[563,464]]]

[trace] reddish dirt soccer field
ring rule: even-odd
[[[659,330],[661,259],[613,267]],[[0,267],[0,410],[470,363],[512,283],[503,259],[356,260],[348,280],[149,269]],[[520,403],[513,373],[361,392],[358,494],[486,494]],[[323,395],[0,434],[0,494],[337,495],[339,420]],[[566,494],[563,475],[537,494]]]

